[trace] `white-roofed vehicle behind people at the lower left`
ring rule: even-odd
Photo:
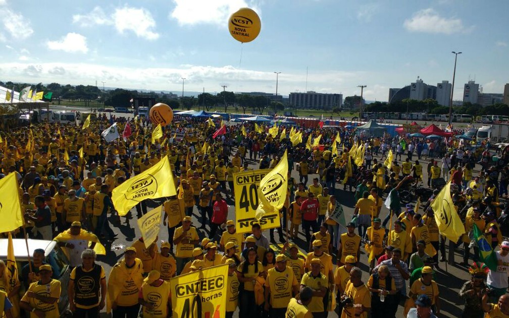
[[[45,251],[46,259],[44,262],[51,265],[53,268],[53,278],[60,281],[62,291],[60,293],[59,300],[59,311],[61,316],[69,308],[69,298],[67,295],[67,286],[69,285],[69,275],[71,270],[69,268],[69,260],[64,254],[64,251],[56,244],[55,241],[46,240],[28,240],[28,250],[24,239],[13,239],[14,246],[14,257],[16,258],[16,264],[18,265],[18,273],[21,275],[21,269],[23,266],[28,264],[29,259],[27,255],[34,254],[34,250],[42,248]],[[0,259],[7,259],[7,245],[8,239],[0,239]],[[20,278],[21,281],[21,278]],[[20,298],[24,295],[25,290],[23,283],[21,283]]]

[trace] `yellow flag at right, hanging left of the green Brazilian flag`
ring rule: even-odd
[[[456,211],[453,198],[450,196],[450,181],[435,197],[431,208],[435,212],[435,221],[440,234],[445,235],[453,242],[458,242],[458,239],[465,233],[465,226]]]

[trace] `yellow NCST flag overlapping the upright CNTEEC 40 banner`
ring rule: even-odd
[[[288,191],[288,154],[279,160],[279,163],[263,177],[258,187],[260,204],[256,209],[256,218],[261,219],[265,213],[279,211],[286,201]]]

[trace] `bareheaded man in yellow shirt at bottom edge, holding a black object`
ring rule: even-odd
[[[358,267],[350,270],[350,281],[341,300],[351,299],[352,302],[343,307],[341,318],[360,317],[366,318],[371,311],[371,294],[367,286],[362,282],[362,271]]]

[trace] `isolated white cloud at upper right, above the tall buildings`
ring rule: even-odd
[[[411,19],[405,20],[405,28],[412,32],[453,34],[468,31],[461,19],[444,18],[435,10],[423,9],[417,11]]]

